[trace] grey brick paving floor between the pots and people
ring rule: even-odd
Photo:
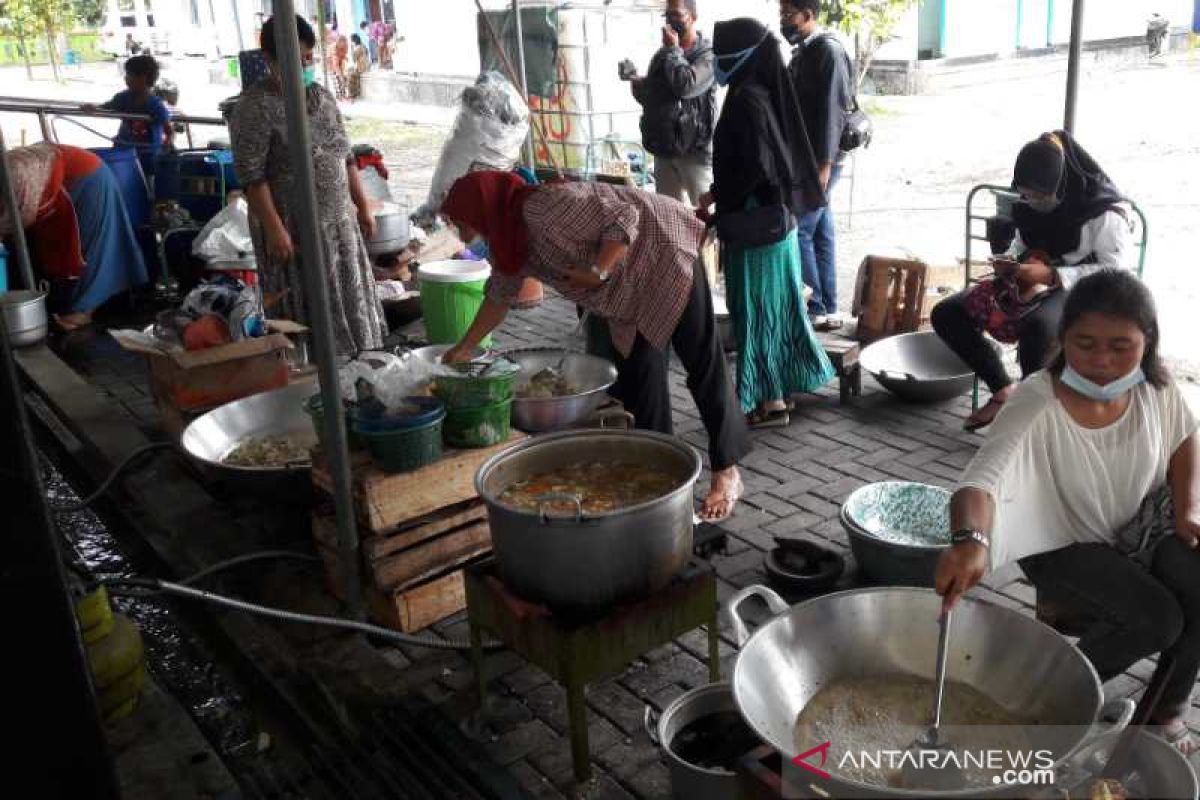
[[[568,345],[581,348],[575,314],[560,299],[514,312],[498,332],[498,348]],[[59,343],[60,353],[94,385],[110,395],[148,431],[157,413],[145,387],[142,357],[124,353],[110,337],[90,333]],[[672,381],[676,432],[704,450],[706,438],[695,407],[676,367]],[[964,433],[968,397],[938,404],[906,404],[864,377],[863,395],[851,404],[838,403],[836,385],[797,398],[797,411],[786,429],[754,433],[755,451],[743,463],[746,497],[725,528],[730,546],[712,560],[719,594],[726,600],[738,589],[766,583],[763,553],[774,536],[810,539],[836,548],[847,571],[839,588],[857,585],[857,570],[846,534],[838,522],[841,501],[858,486],[881,480],[920,481],[950,486],[971,458],[979,437]],[[697,492],[707,483],[702,476]],[[1033,589],[1024,579],[989,577],[977,596],[1032,614]],[[790,601],[802,596],[786,596]],[[724,630],[722,674],[731,674],[736,655]],[[463,615],[434,627],[448,638],[464,634]],[[574,787],[566,729],[565,696],[540,670],[510,652],[488,656],[492,676],[488,712],[480,730],[486,750],[538,798],[577,794],[593,799],[664,798],[667,769],[643,730],[647,705],[661,710],[680,692],[706,682],[703,631],[646,654],[620,676],[588,691],[590,747],[595,778]],[[448,709],[462,709],[472,686],[468,661],[456,654],[401,648],[390,660],[406,669],[422,662],[428,672],[421,692]],[[1110,698],[1136,694],[1153,669],[1150,660],[1109,681]],[[1200,728],[1200,708],[1189,720]]]

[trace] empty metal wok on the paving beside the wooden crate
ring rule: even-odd
[[[970,391],[971,367],[934,331],[900,333],[865,348],[858,363],[901,399],[936,403]]]

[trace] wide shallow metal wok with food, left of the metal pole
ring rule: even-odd
[[[197,417],[180,445],[211,477],[250,485],[299,475],[307,480],[317,443],[305,402],[314,381],[251,395]]]

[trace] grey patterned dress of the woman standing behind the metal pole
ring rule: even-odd
[[[342,115],[324,86],[308,86],[306,97],[317,182],[318,240],[329,283],[332,332],[337,353],[355,355],[382,347],[386,325],[376,294],[371,258],[350,199],[346,172],[350,140],[346,136]],[[251,236],[263,293],[286,291],[277,313],[307,325],[310,313],[299,263],[305,254],[299,249],[302,240],[294,203],[296,181],[289,161],[283,96],[276,82],[269,78],[242,94],[230,119],[229,132],[238,180],[242,186],[266,181],[275,209],[296,247],[296,258],[286,264],[275,263],[266,251],[263,225],[251,217]]]

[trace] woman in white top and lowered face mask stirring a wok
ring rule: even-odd
[[[937,567],[946,607],[1019,561],[1039,608],[1082,622],[1102,680],[1156,652],[1174,661],[1152,721],[1184,753],[1200,673],[1196,417],[1158,357],[1146,287],[1127,271],[1070,290],[1062,351],[1004,403],[950,501]],[[1174,501],[1174,504],[1172,504]],[[1174,505],[1174,509],[1171,507]]]

